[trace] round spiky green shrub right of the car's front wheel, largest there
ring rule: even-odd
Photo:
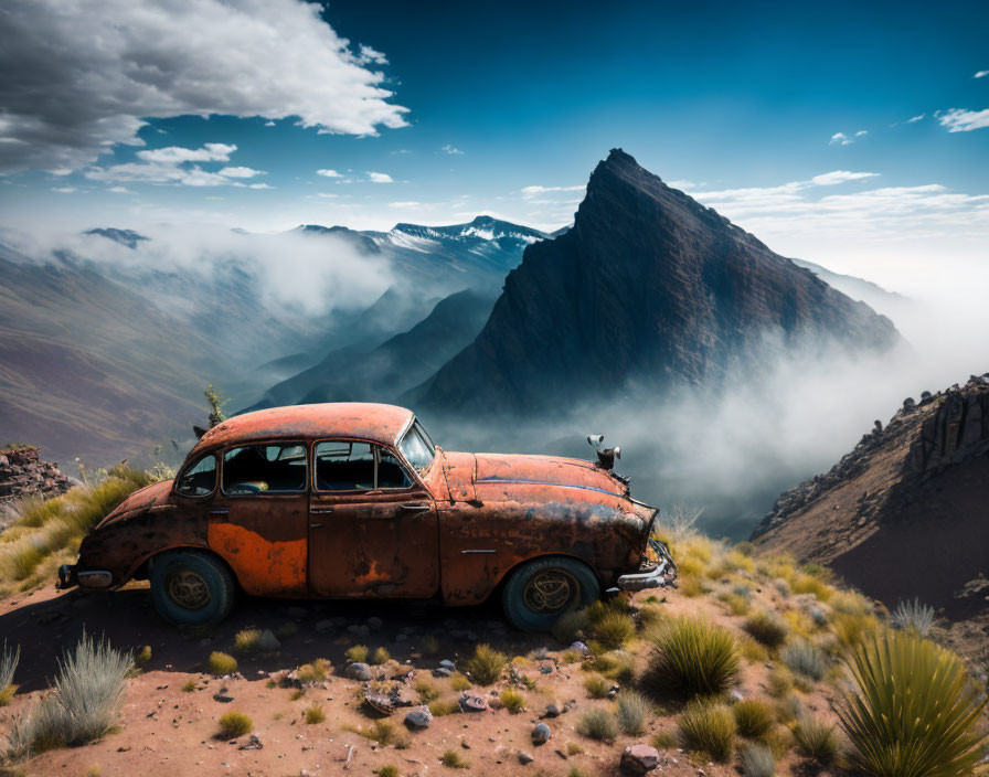
[[[644,682],[653,692],[682,696],[722,693],[738,682],[738,646],[726,629],[677,618],[663,629]]]

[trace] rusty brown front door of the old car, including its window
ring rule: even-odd
[[[439,539],[432,494],[392,450],[362,440],[312,447],[309,585],[328,597],[433,596]]]

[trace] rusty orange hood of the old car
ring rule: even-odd
[[[579,498],[589,501],[628,498],[628,486],[608,470],[559,456],[444,451],[444,475],[455,501],[497,501],[499,493],[510,493],[515,487],[582,491]]]

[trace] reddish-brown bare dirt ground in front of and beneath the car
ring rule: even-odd
[[[676,590],[645,592],[636,595],[641,602],[658,593],[670,613],[706,613],[714,620],[737,629],[741,617],[726,615],[711,597],[687,598]],[[756,593],[755,603],[779,607],[775,592]],[[319,634],[316,624],[330,619],[332,631]],[[369,626],[370,619],[370,626]],[[381,624],[379,625],[377,620]],[[284,640],[280,651],[249,658],[238,657],[240,671],[228,679],[214,679],[205,673],[205,660],[213,650],[232,651],[234,635],[246,627],[277,629],[287,621],[298,632]],[[327,624],[322,624],[325,629]],[[376,627],[376,628],[375,628]],[[637,737],[620,736],[605,744],[581,736],[575,731],[579,716],[594,706],[607,706],[607,700],[588,698],[583,686],[586,672],[578,663],[561,666],[565,646],[549,636],[524,635],[512,630],[494,605],[470,609],[444,608],[435,603],[337,603],[242,599],[231,618],[210,636],[183,635],[161,621],[150,606],[148,592],[130,587],[110,594],[70,592],[60,594],[45,587],[32,595],[21,595],[0,603],[0,634],[21,645],[21,663],[15,681],[21,685],[12,704],[0,710],[0,736],[9,717],[25,711],[47,688],[55,673],[56,659],[63,647],[75,642],[83,628],[106,635],[114,646],[139,649],[151,647],[152,657],[136,678],[128,681],[119,731],[103,741],[84,747],[63,748],[40,755],[19,765],[26,775],[65,775],[83,777],[98,767],[100,777],[143,777],[172,775],[371,775],[392,764],[400,774],[458,774],[443,766],[439,756],[456,749],[470,764],[468,774],[543,775],[565,777],[572,768],[587,777],[617,775],[618,760],[626,745],[649,743],[661,731],[676,735],[676,710],[648,722],[647,732]],[[418,643],[423,637],[439,640],[439,650],[423,656]],[[510,657],[528,656],[519,671],[536,682],[534,691],[523,690],[528,709],[519,714],[507,710],[481,713],[455,713],[436,717],[428,730],[407,732],[400,709],[392,716],[395,730],[407,746],[380,747],[351,727],[364,728],[372,723],[361,707],[361,683],[344,678],[344,651],[355,643],[372,650],[387,648],[397,664],[411,667],[408,690],[417,679],[430,677],[439,661],[449,659],[460,667],[474,652],[477,641],[489,642]],[[545,649],[545,659],[536,657]],[[639,668],[645,666],[648,646],[637,641],[632,652]],[[269,677],[290,670],[317,658],[329,659],[333,673],[321,686],[310,688],[293,701],[291,689],[269,686]],[[767,663],[746,663],[740,691],[743,695],[765,695]],[[405,670],[402,670],[405,671]],[[196,690],[183,692],[189,679]],[[433,679],[444,690],[443,698],[458,695],[446,679]],[[506,686],[500,681],[472,692],[492,699],[492,691]],[[827,686],[804,696],[807,709],[826,717],[829,710]],[[219,701],[216,698],[232,698]],[[573,710],[546,720],[552,736],[546,744],[534,746],[531,732],[550,703],[561,707],[576,700]],[[306,724],[304,711],[313,702],[326,712],[326,721]],[[248,737],[227,742],[214,738],[217,720],[230,711],[245,712],[254,721],[254,733],[262,749],[243,749]],[[7,720],[4,720],[7,719]],[[582,752],[570,755],[568,743]],[[532,757],[520,763],[519,753]],[[706,775],[726,777],[741,771],[735,762],[709,764],[678,749],[661,751],[660,767],[652,774]],[[777,769],[778,775],[838,774],[812,771],[793,753]]]

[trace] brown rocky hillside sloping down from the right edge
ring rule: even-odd
[[[868,594],[989,609],[989,373],[907,398],[834,467],[779,497],[753,539]]]

